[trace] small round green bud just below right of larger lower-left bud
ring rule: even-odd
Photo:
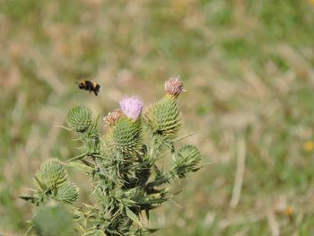
[[[79,189],[70,182],[65,182],[57,188],[57,200],[67,204],[73,204],[78,198]]]

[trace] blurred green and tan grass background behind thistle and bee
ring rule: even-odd
[[[67,109],[104,116],[124,93],[147,105],[179,74],[181,135],[212,163],[156,212],[154,235],[310,235],[313,47],[311,0],[0,0],[0,234],[27,229],[18,196],[40,162],[77,152],[56,127]]]

